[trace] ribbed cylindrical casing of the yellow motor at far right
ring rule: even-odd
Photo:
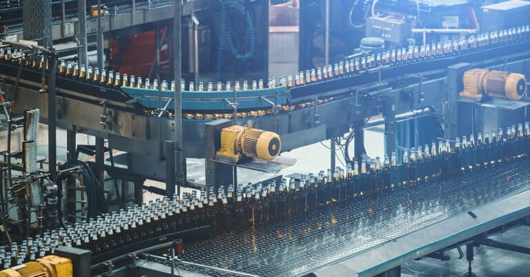
[[[523,74],[491,71],[484,78],[484,92],[491,97],[519,100],[527,92]]]

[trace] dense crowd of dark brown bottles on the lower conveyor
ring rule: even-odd
[[[424,145],[418,150],[404,151],[403,161],[397,155],[376,157],[371,161],[355,161],[346,170],[337,168],[300,178],[282,179],[266,184],[220,186],[215,193],[201,189],[173,199],[164,197],[135,205],[127,211],[90,218],[65,229],[46,232],[12,245],[2,251],[0,258],[16,258],[23,263],[35,255],[52,254],[54,247],[72,245],[90,249],[98,254],[164,234],[210,225],[213,234],[225,234],[244,229],[261,228],[275,222],[293,220],[323,208],[334,208],[362,197],[377,197],[395,189],[446,181],[459,174],[469,174],[478,167],[502,166],[530,156],[530,125],[508,127],[506,135],[499,129],[491,133],[471,134],[438,145]],[[14,248],[13,248],[14,247]],[[2,253],[7,253],[2,255]],[[8,255],[9,254],[9,255]],[[17,256],[19,255],[19,256]],[[7,263],[7,262],[6,262]],[[12,263],[10,261],[9,263]]]

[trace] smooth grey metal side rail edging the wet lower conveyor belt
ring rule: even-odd
[[[427,256],[439,249],[458,244],[502,225],[530,216],[530,191],[476,207],[469,212],[440,221],[390,243],[340,260],[313,271],[312,276],[375,276],[400,265]]]

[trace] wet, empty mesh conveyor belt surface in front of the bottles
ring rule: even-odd
[[[184,260],[259,276],[296,276],[530,188],[530,161],[404,187],[317,214],[185,245]],[[188,268],[190,269],[190,268]],[[207,272],[213,274],[213,272]]]

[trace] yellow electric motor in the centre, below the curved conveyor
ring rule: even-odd
[[[281,148],[282,142],[274,132],[233,125],[221,131],[221,148],[217,155],[235,162],[244,156],[271,161]]]

